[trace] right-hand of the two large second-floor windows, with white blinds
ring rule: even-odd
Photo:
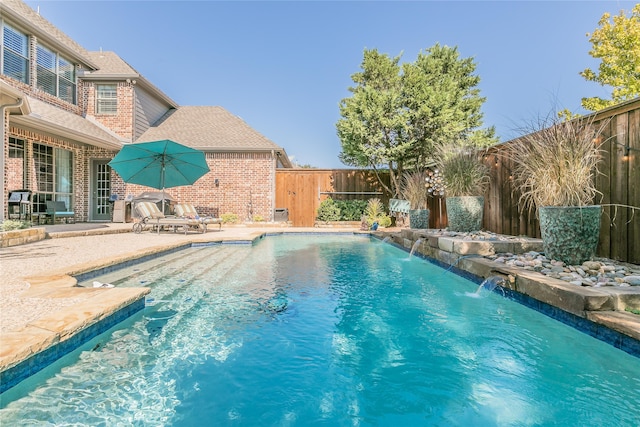
[[[42,45],[38,45],[37,55],[38,89],[75,104],[76,72],[73,64]]]

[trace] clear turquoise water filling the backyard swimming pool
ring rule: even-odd
[[[4,393],[0,425],[640,425],[640,359],[368,238],[191,248],[91,280],[152,293]]]

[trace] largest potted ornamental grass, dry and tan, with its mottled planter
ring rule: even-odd
[[[581,264],[595,255],[602,207],[595,203],[605,123],[592,118],[542,121],[508,150],[520,202],[537,208],[545,255]]]

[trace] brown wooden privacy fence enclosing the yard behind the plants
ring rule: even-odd
[[[640,264],[640,98],[598,113],[596,121],[608,120],[601,149],[603,158],[597,189],[603,205],[598,255]],[[512,186],[512,164],[504,150],[513,141],[489,150],[485,161],[491,168],[491,185],[485,194],[484,228],[499,234],[540,237],[535,212],[523,210],[520,194]],[[624,156],[629,147],[628,156]],[[389,181],[388,173],[383,175]],[[388,206],[371,170],[279,169],[276,173],[276,207],[289,212],[296,227],[312,227],[322,200],[377,197]],[[430,198],[430,228],[447,226],[445,201]]]

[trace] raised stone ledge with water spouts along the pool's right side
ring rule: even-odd
[[[505,279],[505,289],[631,338],[624,345],[631,345],[633,348],[622,349],[640,356],[640,316],[625,311],[626,308],[640,310],[640,286],[577,286],[535,271],[484,258],[505,252],[541,252],[540,239],[498,236],[499,239],[496,240],[475,241],[443,235],[439,230],[411,229],[374,234],[382,240],[390,240],[406,250],[482,279],[501,276]],[[602,333],[606,331],[595,335]],[[611,344],[621,348],[615,342]]]

